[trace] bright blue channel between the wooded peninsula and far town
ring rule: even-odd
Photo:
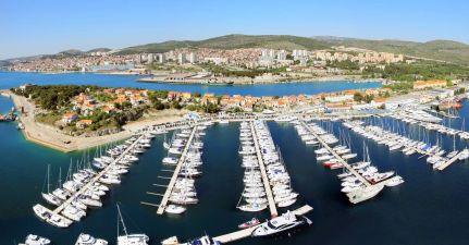
[[[261,85],[230,85],[208,86],[198,84],[164,84],[164,83],[138,83],[138,76],[107,75],[91,73],[70,74],[41,74],[41,73],[17,73],[0,72],[0,89],[17,87],[25,83],[34,84],[76,84],[97,85],[103,87],[139,87],[158,90],[199,91],[214,93],[215,95],[313,95],[319,93],[340,91],[357,88],[381,87],[381,83],[351,83],[345,81],[336,82],[311,82],[288,84],[261,84]]]

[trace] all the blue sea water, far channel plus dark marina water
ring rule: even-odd
[[[96,84],[101,86],[137,86],[153,89],[192,90],[222,94],[277,95],[303,91],[319,93],[324,89],[349,89],[371,84],[347,82],[301,83],[256,86],[217,86],[136,84],[136,77],[92,74],[41,75],[30,73],[1,73],[0,87],[15,87],[26,82],[36,84]],[[273,86],[273,87],[271,87]],[[279,87],[275,87],[279,86]],[[336,88],[336,87],[341,88]],[[275,88],[274,88],[275,87]],[[301,90],[298,90],[301,89]],[[269,91],[269,93],[267,93]],[[0,96],[0,112],[10,110],[12,102]],[[461,128],[468,121],[469,103],[464,102],[460,119],[445,120],[444,124]],[[465,119],[465,120],[462,120]],[[384,118],[368,119],[369,124],[384,125],[388,130],[415,137],[423,131],[417,126]],[[359,205],[350,205],[343,193],[336,174],[316,161],[314,148],[306,146],[295,127],[288,123],[268,122],[275,145],[292,177],[293,188],[299,198],[291,209],[305,204],[313,207],[307,217],[311,226],[296,230],[288,235],[272,238],[248,237],[236,245],[459,245],[468,244],[469,234],[469,162],[457,162],[445,171],[434,171],[425,159],[404,156],[399,151],[390,152],[385,146],[355,134],[340,122],[317,122],[350,142],[351,148],[361,159],[363,144],[369,148],[370,158],[380,171],[396,171],[405,183],[386,187],[375,198]],[[466,131],[469,123],[465,123]],[[182,216],[158,216],[155,207],[140,201],[158,204],[160,197],[147,192],[163,193],[169,176],[162,171],[161,159],[166,156],[164,138],[157,136],[151,148],[140,156],[138,163],[122,177],[122,183],[112,187],[102,199],[103,207],[92,209],[81,222],[69,229],[51,226],[35,217],[32,207],[45,201],[40,193],[47,189],[47,168],[50,166],[50,184],[62,179],[71,162],[91,158],[99,148],[71,154],[59,152],[25,140],[16,124],[0,123],[0,244],[17,244],[29,234],[49,237],[53,244],[73,245],[79,233],[89,233],[115,244],[118,235],[119,204],[129,233],[146,233],[150,244],[160,244],[169,236],[177,235],[180,241],[209,234],[218,236],[237,230],[244,221],[257,217],[264,220],[268,211],[246,213],[236,209],[243,192],[242,159],[238,156],[239,124],[214,124],[207,128],[203,137],[203,174],[196,181],[199,204],[190,206]],[[447,150],[467,147],[467,142],[434,133],[425,136],[435,144],[442,142]],[[344,139],[344,140],[345,140]],[[286,209],[281,209],[284,212]],[[120,229],[122,233],[122,226]]]

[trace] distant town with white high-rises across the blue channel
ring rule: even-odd
[[[350,73],[341,64],[355,64]],[[346,47],[331,50],[274,50],[261,48],[181,48],[161,53],[122,54],[120,50],[81,54],[57,54],[13,61],[10,71],[63,73],[95,72],[146,75],[140,82],[251,84],[301,81],[351,75],[360,78],[363,69],[383,70],[391,63],[414,63],[403,54]],[[357,76],[358,75],[358,76]]]

